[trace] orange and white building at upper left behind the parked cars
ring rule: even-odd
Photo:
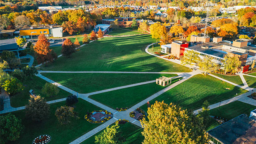
[[[37,38],[40,34],[45,36],[62,37],[61,26],[31,26],[20,29],[20,36],[23,38]]]

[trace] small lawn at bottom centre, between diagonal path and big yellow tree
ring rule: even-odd
[[[141,144],[144,140],[144,136],[142,136],[141,134],[141,132],[143,131],[142,128],[130,122],[125,124],[119,124],[119,126],[120,127],[118,128],[118,130],[120,130],[121,136],[126,140],[122,144]],[[83,141],[81,144],[94,144],[95,136],[100,134],[101,132],[103,132],[103,130]]]

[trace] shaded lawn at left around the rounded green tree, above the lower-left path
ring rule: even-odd
[[[10,102],[11,102],[11,106],[12,107],[20,107],[20,106],[25,106],[26,104],[28,104],[28,100],[30,99],[30,93],[29,90],[34,90],[35,94],[40,94],[40,96],[45,96],[44,94],[42,94],[41,89],[44,86],[44,84],[46,83],[45,80],[34,76],[33,80],[26,80],[26,82],[24,83],[24,90],[18,94],[15,94],[14,96],[10,96]],[[50,100],[56,100],[56,99],[60,99],[60,98],[66,98],[68,96],[70,96],[71,94],[58,88],[60,90],[60,92],[58,93],[58,96],[54,96],[54,97],[50,97],[50,98],[45,98],[47,101]]]

